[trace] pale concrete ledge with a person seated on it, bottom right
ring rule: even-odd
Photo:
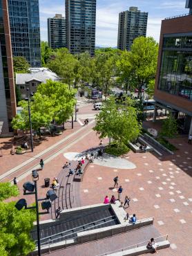
[[[157,247],[157,250],[161,250],[164,248],[169,248],[170,242],[168,240],[157,242],[159,245]],[[136,255],[144,255],[145,253],[153,253],[153,249],[148,249],[146,246],[139,246],[137,248],[129,249],[129,250],[123,250],[119,253],[111,253],[108,254],[108,256],[136,256]]]

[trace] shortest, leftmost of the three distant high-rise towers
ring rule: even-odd
[[[66,47],[66,19],[62,15],[48,18],[48,46],[52,49]]]

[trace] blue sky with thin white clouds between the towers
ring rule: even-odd
[[[119,12],[137,6],[148,12],[146,35],[160,39],[162,19],[188,13],[186,0],[97,0],[96,46],[117,46]],[[41,40],[47,41],[47,19],[61,13],[65,17],[65,0],[39,0]]]

